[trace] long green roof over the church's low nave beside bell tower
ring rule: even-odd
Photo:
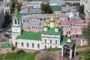
[[[22,32],[17,39],[41,40],[41,32]]]

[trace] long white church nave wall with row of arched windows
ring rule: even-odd
[[[17,48],[32,49],[32,50],[41,50],[42,49],[41,41],[24,40],[24,39],[12,40],[12,43],[14,44],[14,46],[15,46],[16,42],[17,42]],[[23,43],[23,46],[22,46],[22,43]],[[29,44],[29,46],[27,46],[27,43]],[[34,44],[33,47],[32,47],[32,44]],[[38,47],[38,44],[40,45],[40,47]]]

